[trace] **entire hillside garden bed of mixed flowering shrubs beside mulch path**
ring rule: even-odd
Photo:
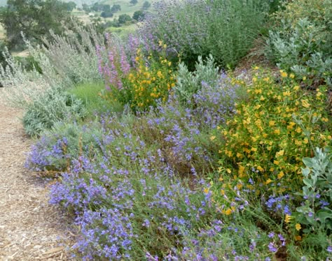
[[[331,260],[331,36],[331,0],[174,0],[125,38],[74,22],[25,38],[29,68],[5,53],[73,255]]]

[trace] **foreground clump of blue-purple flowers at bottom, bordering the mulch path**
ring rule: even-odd
[[[149,152],[131,165],[111,154],[99,164],[85,162],[53,185],[50,202],[69,208],[81,226],[76,248],[84,260],[165,256],[181,247],[184,231],[217,215],[209,195],[188,188]]]

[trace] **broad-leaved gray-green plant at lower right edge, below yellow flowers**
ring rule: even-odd
[[[332,154],[328,149],[316,148],[313,158],[303,158],[303,196],[305,202],[296,211],[297,220],[306,226],[303,232],[332,230]]]

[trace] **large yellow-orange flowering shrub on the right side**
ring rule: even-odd
[[[249,100],[237,105],[233,119],[219,128],[224,144],[214,194],[255,191],[256,195],[300,191],[303,157],[331,143],[326,90],[301,89],[281,71],[281,84],[256,71]],[[229,197],[228,197],[229,199]]]

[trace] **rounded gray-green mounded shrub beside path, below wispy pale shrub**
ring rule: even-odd
[[[28,105],[22,121],[25,132],[35,136],[52,128],[57,121],[74,120],[84,116],[85,107],[82,100],[61,89],[52,88]]]

